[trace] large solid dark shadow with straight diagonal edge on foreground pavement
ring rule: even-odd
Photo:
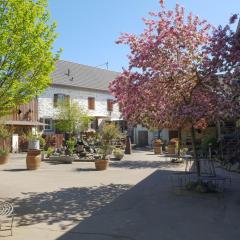
[[[57,240],[237,240],[238,191],[193,194],[171,187],[158,170]]]

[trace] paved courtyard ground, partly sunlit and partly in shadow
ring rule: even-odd
[[[150,151],[113,161],[50,164],[27,171],[25,155],[0,166],[0,198],[14,203],[13,236],[44,240],[238,240],[240,175],[224,194],[193,194],[171,187],[183,169]]]

